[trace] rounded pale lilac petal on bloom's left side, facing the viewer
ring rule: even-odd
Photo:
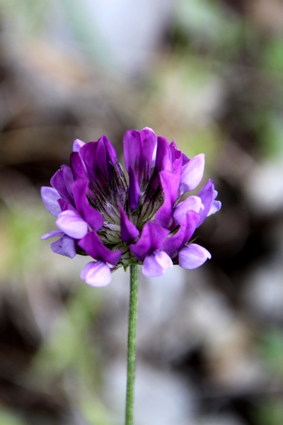
[[[60,212],[56,224],[59,229],[74,239],[81,239],[88,232],[88,224],[76,211]]]

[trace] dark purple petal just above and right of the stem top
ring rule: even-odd
[[[169,230],[163,229],[156,222],[147,222],[141,231],[141,237],[136,244],[129,245],[129,249],[139,261],[142,261],[151,252],[159,249]]]

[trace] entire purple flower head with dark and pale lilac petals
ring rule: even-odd
[[[106,136],[88,143],[77,139],[71,166],[63,165],[52,187],[41,190],[59,228],[42,239],[59,237],[51,244],[57,254],[91,256],[81,279],[93,286],[108,285],[112,271],[131,263],[157,277],[173,264],[196,268],[211,258],[190,239],[221,208],[212,180],[196,196],[182,198],[200,184],[204,154],[188,159],[174,141],[150,128],[127,131],[123,143],[127,178]]]

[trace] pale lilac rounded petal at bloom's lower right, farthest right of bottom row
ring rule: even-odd
[[[204,261],[211,259],[212,255],[203,246],[190,244],[183,246],[179,251],[179,266],[183,268],[197,268],[202,266]]]

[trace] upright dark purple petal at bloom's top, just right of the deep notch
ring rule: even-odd
[[[139,131],[128,130],[123,137],[124,157],[126,170],[129,173],[129,167],[137,170],[139,158],[141,155],[141,137]]]

